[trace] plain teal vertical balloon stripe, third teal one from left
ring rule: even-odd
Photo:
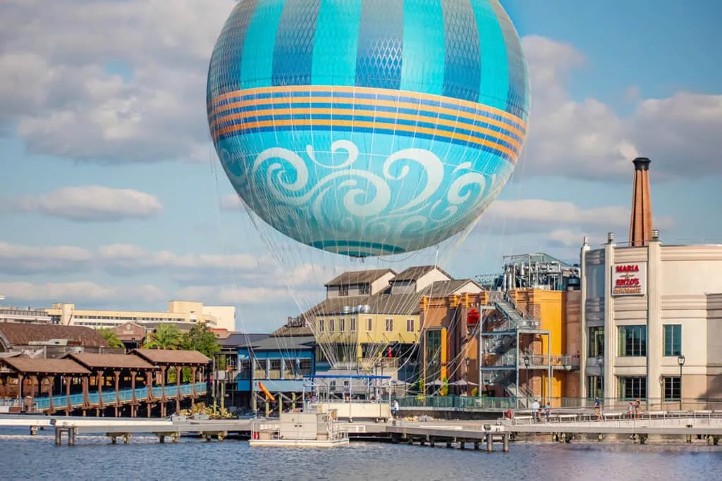
[[[401,90],[440,95],[446,56],[439,0],[404,0],[404,60]]]

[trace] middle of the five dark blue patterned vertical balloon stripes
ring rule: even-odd
[[[357,87],[399,89],[404,55],[404,1],[364,0],[356,54]]]

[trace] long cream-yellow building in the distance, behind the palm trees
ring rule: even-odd
[[[75,304],[53,304],[45,309],[53,324],[87,327],[118,327],[133,322],[137,325],[173,324],[182,330],[204,322],[211,327],[233,330],[235,307],[204,306],[196,301],[170,301],[166,312],[103,311],[76,309]]]

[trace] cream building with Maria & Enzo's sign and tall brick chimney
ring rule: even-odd
[[[649,159],[634,161],[629,242],[581,248],[580,392],[650,405],[722,398],[722,245],[652,229]],[[698,405],[697,405],[698,406]]]

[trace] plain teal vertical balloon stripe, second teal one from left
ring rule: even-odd
[[[321,0],[313,41],[311,84],[356,84],[362,0]]]

